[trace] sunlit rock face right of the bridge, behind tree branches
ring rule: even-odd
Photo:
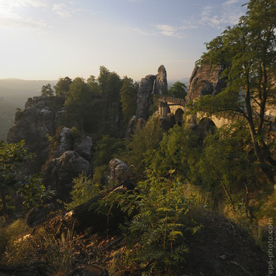
[[[224,78],[221,78],[223,70],[223,65],[195,66],[189,81],[187,100],[195,100],[210,94],[215,96],[220,93],[226,87]]]

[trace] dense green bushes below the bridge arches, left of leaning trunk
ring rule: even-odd
[[[207,135],[202,154],[193,166],[192,181],[212,191],[216,200],[222,200],[222,194],[226,198],[224,201],[231,204],[244,200],[244,183],[254,182],[257,178],[255,157],[248,153],[248,144],[250,137],[244,121],[226,125],[215,134]]]

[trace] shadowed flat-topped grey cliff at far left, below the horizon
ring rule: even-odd
[[[35,160],[29,166],[31,173],[40,171],[47,160],[50,142],[46,134],[54,136],[62,121],[61,110],[64,99],[60,97],[38,96],[29,98],[25,109],[17,112],[14,126],[8,132],[8,142],[25,140],[28,152],[35,153]]]

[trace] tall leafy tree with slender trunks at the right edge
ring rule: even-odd
[[[263,136],[264,116],[269,103],[275,103],[276,73],[276,3],[273,0],[251,0],[246,16],[233,28],[206,43],[202,63],[224,63],[222,76],[227,86],[215,97],[204,96],[195,108],[209,113],[237,112],[244,116],[255,156],[263,171],[266,161],[273,166]],[[241,91],[244,97],[241,97]]]

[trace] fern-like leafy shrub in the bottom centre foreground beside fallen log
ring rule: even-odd
[[[191,229],[186,216],[190,202],[181,182],[150,178],[140,182],[136,191],[112,193],[106,200],[128,215],[136,214],[122,228],[127,242],[125,266],[142,270],[142,275],[173,275],[173,268],[183,268],[188,252],[184,235]]]

